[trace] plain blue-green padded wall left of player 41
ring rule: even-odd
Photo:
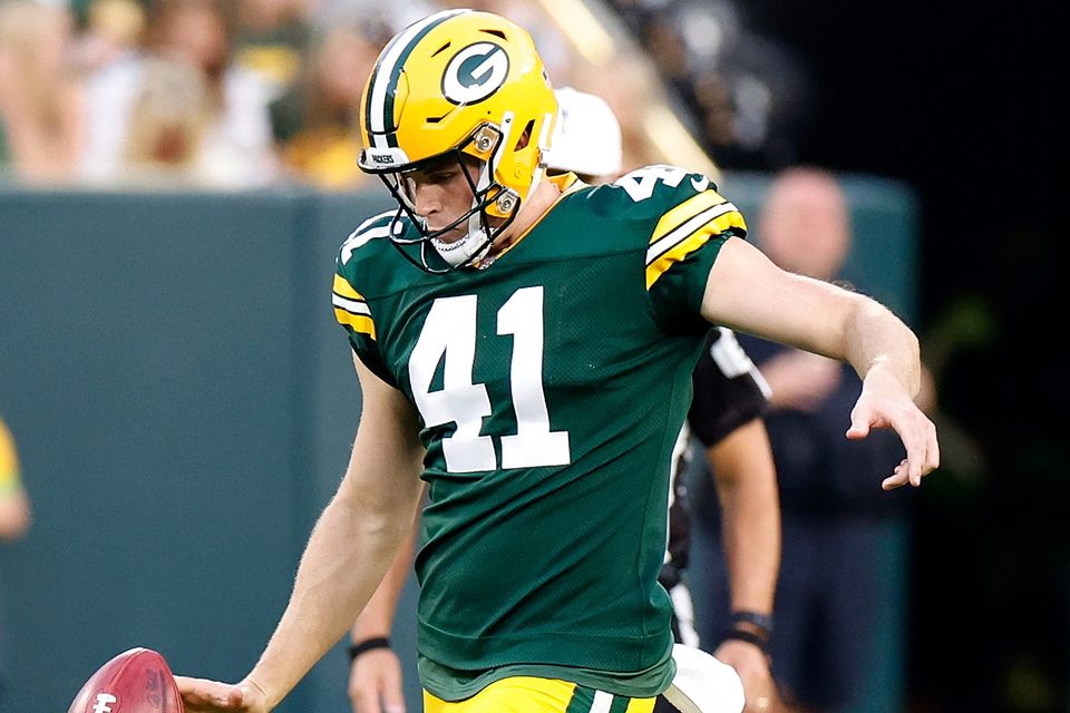
[[[344,336],[324,339],[348,228],[328,241],[319,211],[299,192],[0,193],[0,413],[36,511],[0,547],[2,710],[66,710],[130,646],[194,675],[254,662],[359,413]],[[332,358],[340,442],[313,418]],[[315,710],[320,675],[282,710]]]

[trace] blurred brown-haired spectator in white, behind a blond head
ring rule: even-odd
[[[142,166],[126,158],[140,155],[130,146],[132,119],[139,102],[158,98],[152,77],[146,78],[157,59],[185,62],[204,82],[206,118],[192,149],[192,169],[176,177],[222,189],[273,183],[279,162],[271,140],[270,90],[255,74],[231,61],[230,26],[218,0],[158,0],[149,6],[147,19],[144,51],[89,79],[86,177],[104,183],[136,183],[142,177]]]

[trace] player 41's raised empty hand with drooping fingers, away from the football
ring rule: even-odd
[[[936,426],[914,403],[898,381],[872,370],[866,374],[862,395],[850,412],[847,438],[860,440],[875,428],[891,428],[903,441],[906,458],[881,482],[885,490],[905,485],[917,487],[922,478],[940,466]]]

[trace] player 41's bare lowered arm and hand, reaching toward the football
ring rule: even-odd
[[[323,510],[260,661],[236,685],[176,676],[186,713],[265,713],[349,629],[410,533],[424,456],[411,404],[354,360],[363,409],[346,477]]]

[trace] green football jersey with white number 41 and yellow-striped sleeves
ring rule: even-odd
[[[420,414],[420,675],[445,700],[505,675],[652,696],[673,673],[669,466],[710,267],[746,226],[682,168],[558,180],[486,270],[417,268],[392,213],[338,256],[339,322]]]

